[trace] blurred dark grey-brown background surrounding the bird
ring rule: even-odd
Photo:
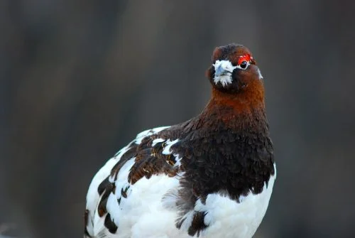
[[[355,237],[354,4],[0,1],[0,232],[82,237],[94,173],[199,114],[212,50],[235,42],[263,73],[278,164],[255,237]]]

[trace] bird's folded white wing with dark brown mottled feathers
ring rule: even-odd
[[[181,158],[172,152],[171,147],[179,140],[160,135],[168,128],[164,126],[141,132],[94,176],[87,193],[87,237],[109,237],[116,233],[119,217],[124,215],[122,211],[125,208],[129,209],[126,201],[138,180],[158,174],[178,176]]]

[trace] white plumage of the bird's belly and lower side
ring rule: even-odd
[[[129,185],[127,176],[133,165],[133,159],[119,171],[116,193],[119,193],[125,185]],[[115,164],[110,161],[104,166],[104,170],[107,171],[106,176]],[[104,227],[105,217],[99,217],[97,212],[94,212],[97,210],[97,205],[94,203],[99,200],[96,195],[97,186],[105,177],[103,173],[102,170],[97,173],[87,195],[87,209],[91,220],[88,225],[89,234],[107,238],[190,238],[187,234],[187,227],[190,227],[190,224],[183,224],[181,229],[176,228],[178,210],[166,209],[163,205],[164,195],[169,190],[178,189],[179,186],[178,178],[170,178],[167,175],[153,175],[149,179],[141,178],[134,185],[130,185],[128,198],[122,199],[120,205],[116,202],[116,196],[111,193],[107,202],[107,212],[111,214],[111,220],[119,228],[116,234],[109,233]],[[276,174],[271,176],[267,187],[264,185],[262,193],[257,195],[250,193],[241,198],[239,203],[219,194],[208,195],[205,204],[197,200],[194,210],[207,212],[204,223],[208,227],[202,231],[200,237],[252,237],[266,213],[275,176]],[[185,220],[188,221],[189,219]]]

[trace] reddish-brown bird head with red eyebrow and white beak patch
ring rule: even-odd
[[[228,94],[240,94],[254,90],[256,85],[263,86],[263,77],[250,50],[235,43],[214,49],[207,77],[216,90]]]

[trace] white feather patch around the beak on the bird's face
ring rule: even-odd
[[[213,64],[214,66],[214,83],[221,83],[223,87],[229,85],[232,81],[231,73],[236,66],[233,66],[229,60],[216,60],[216,63]],[[219,74],[222,72],[222,75]]]

